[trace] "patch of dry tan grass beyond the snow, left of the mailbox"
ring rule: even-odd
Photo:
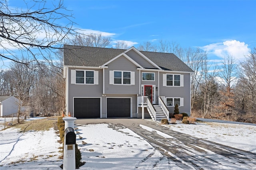
[[[34,121],[22,121],[22,123],[16,124],[12,127],[18,128],[21,131],[48,131],[54,127],[54,123],[57,120],[54,119],[40,119]]]

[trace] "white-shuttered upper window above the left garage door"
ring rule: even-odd
[[[98,71],[71,70],[71,84],[98,84]]]

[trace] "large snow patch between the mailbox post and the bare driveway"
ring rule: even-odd
[[[78,125],[77,143],[86,164],[81,170],[91,169],[168,169],[168,160],[148,142],[130,129],[113,130],[108,124]],[[124,128],[124,129],[123,129]],[[79,137],[82,138],[79,140]],[[86,141],[86,145],[82,145]],[[178,168],[175,164],[170,165]],[[169,167],[170,167],[169,166]]]

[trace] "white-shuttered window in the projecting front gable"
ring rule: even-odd
[[[134,85],[134,72],[132,71],[109,71],[109,84]]]

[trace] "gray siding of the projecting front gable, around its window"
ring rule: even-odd
[[[135,85],[109,84],[110,70],[135,72]],[[126,57],[120,56],[118,59],[109,63],[108,68],[105,69],[105,94],[139,94],[139,80],[137,66],[126,59]]]

